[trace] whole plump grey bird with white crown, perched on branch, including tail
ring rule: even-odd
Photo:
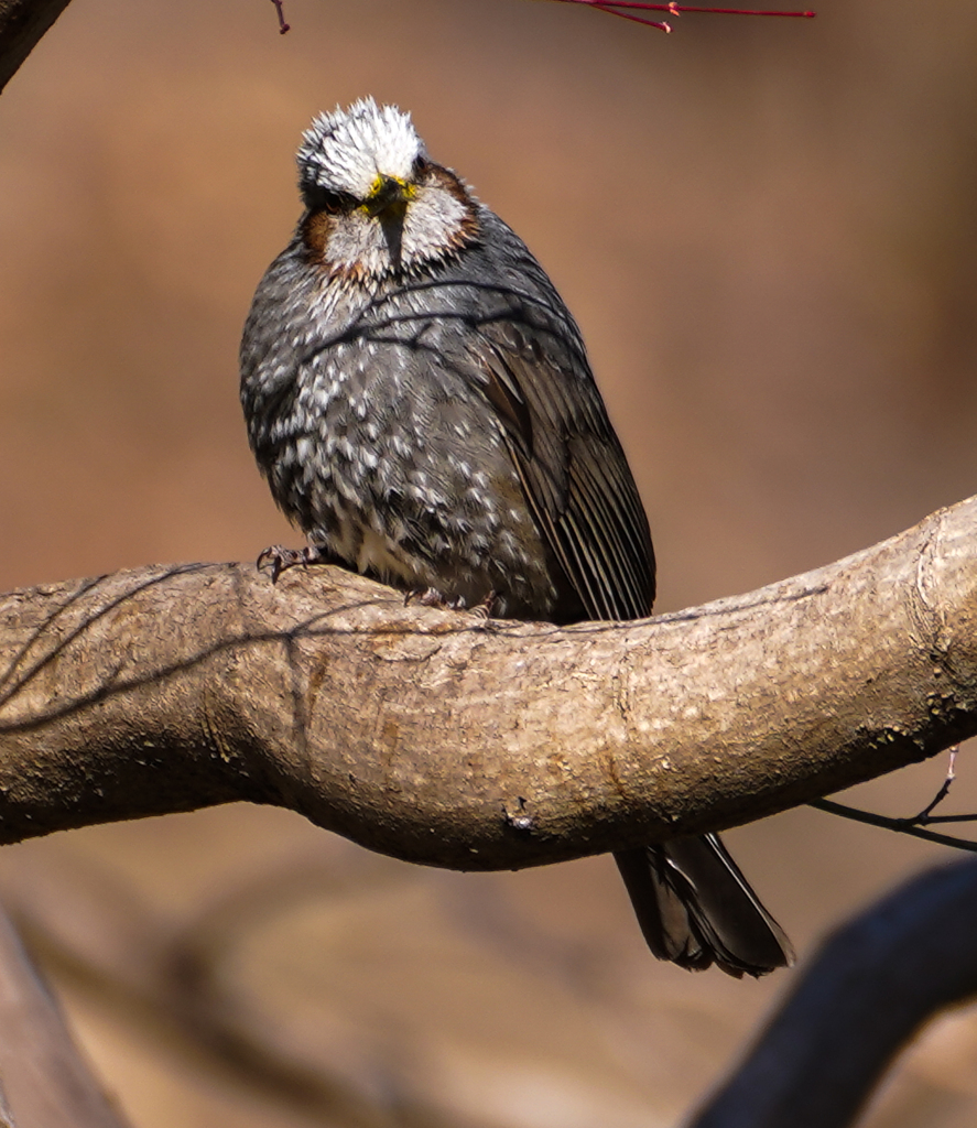
[[[526,244],[363,98],[316,117],[301,218],[240,347],[248,440],[327,562],[407,596],[561,626],[651,614],[649,522],[583,338]],[[652,953],[760,976],[791,945],[720,838],[615,854]]]

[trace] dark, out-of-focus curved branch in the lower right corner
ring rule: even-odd
[[[931,870],[830,936],[689,1128],[845,1128],[933,1014],[977,994],[977,862]]]

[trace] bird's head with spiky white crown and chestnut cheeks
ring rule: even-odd
[[[475,202],[429,159],[408,114],[372,98],[317,117],[298,152],[302,239],[331,275],[410,271],[476,237]]]

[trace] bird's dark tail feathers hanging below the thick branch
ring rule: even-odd
[[[794,960],[791,942],[750,889],[719,835],[615,855],[648,946],[660,960],[737,979]]]

